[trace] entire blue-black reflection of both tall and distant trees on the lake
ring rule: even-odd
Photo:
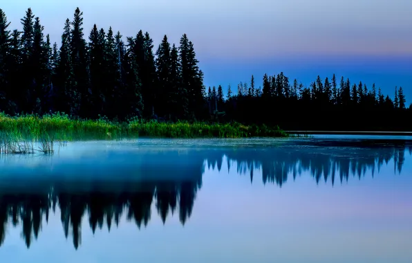
[[[308,171],[319,183],[334,185],[350,176],[374,176],[393,160],[394,174],[402,173],[405,154],[412,153],[406,140],[298,140],[279,147],[140,147],[113,148],[105,154],[64,158],[3,158],[0,173],[0,245],[8,227],[20,227],[26,246],[37,239],[50,212],[60,212],[66,238],[77,249],[82,241],[82,219],[88,217],[93,233],[111,230],[127,215],[138,228],[147,226],[151,206],[163,223],[178,212],[185,225],[202,186],[205,165],[248,172],[253,183],[257,170],[263,183],[282,187],[292,176]],[[206,163],[205,163],[206,161]],[[235,167],[233,166],[236,165]],[[56,209],[58,208],[58,209]]]

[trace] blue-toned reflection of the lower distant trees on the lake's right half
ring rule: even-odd
[[[323,178],[325,182],[330,179],[332,185],[336,176],[339,176],[340,182],[348,181],[350,175],[361,179],[367,170],[373,176],[391,159],[394,172],[400,174],[406,151],[412,152],[412,144],[404,140],[344,140],[341,143],[334,140],[317,143],[302,140],[293,147],[255,149],[252,154],[250,149],[237,149],[225,152],[225,155],[229,169],[232,161],[236,161],[237,172],[243,174],[249,171],[252,181],[254,170],[261,168],[263,183],[277,183],[281,187],[289,174],[296,179],[297,175],[305,171],[317,183]],[[216,163],[216,156],[211,160],[208,159],[209,167]]]

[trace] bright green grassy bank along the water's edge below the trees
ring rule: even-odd
[[[13,140],[99,140],[111,138],[247,138],[289,137],[279,127],[240,123],[158,123],[132,119],[124,123],[77,120],[64,114],[11,117],[0,114],[0,133]],[[6,134],[6,135],[5,135]]]

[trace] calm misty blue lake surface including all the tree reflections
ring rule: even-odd
[[[0,156],[1,262],[412,262],[412,138]]]

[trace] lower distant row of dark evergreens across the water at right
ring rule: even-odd
[[[393,98],[384,96],[375,84],[368,88],[348,78],[337,80],[335,74],[325,80],[318,75],[309,87],[296,79],[290,82],[283,73],[265,74],[259,88],[252,75],[250,84],[241,82],[236,93],[229,87],[226,99],[221,86],[207,92],[210,112],[216,118],[293,130],[411,130],[407,120],[412,117],[412,105],[406,108],[402,87],[395,87]]]

